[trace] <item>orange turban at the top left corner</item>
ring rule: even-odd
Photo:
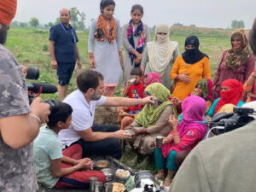
[[[9,26],[14,19],[17,0],[0,0],[0,23]]]

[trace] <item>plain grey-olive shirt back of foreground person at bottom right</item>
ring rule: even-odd
[[[256,120],[199,143],[184,160],[169,192],[254,192]]]

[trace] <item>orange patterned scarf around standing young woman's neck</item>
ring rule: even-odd
[[[109,22],[109,29],[108,29],[106,25],[106,21],[103,19],[103,16],[100,15],[97,21],[96,32],[94,33],[96,40],[104,41],[104,36],[105,36],[106,38],[108,38],[108,42],[110,44],[113,44],[113,41],[116,38],[116,34],[117,34],[117,27],[113,17]]]

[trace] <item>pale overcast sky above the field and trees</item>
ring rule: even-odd
[[[143,22],[148,26],[165,22],[172,26],[226,28],[232,20],[243,20],[247,29],[256,18],[256,0],[115,0],[114,17],[124,25],[131,20],[131,6],[143,5]],[[86,15],[85,25],[100,14],[100,0],[18,0],[14,20],[27,22],[32,17],[40,23],[55,22],[61,8],[77,7]]]

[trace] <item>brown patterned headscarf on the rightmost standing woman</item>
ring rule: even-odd
[[[230,49],[225,57],[225,67],[227,69],[236,69],[241,65],[245,64],[247,59],[250,57],[250,51],[248,49],[248,39],[246,32],[243,29],[237,29],[231,36],[231,45],[233,38],[241,39],[241,48],[240,49]]]

